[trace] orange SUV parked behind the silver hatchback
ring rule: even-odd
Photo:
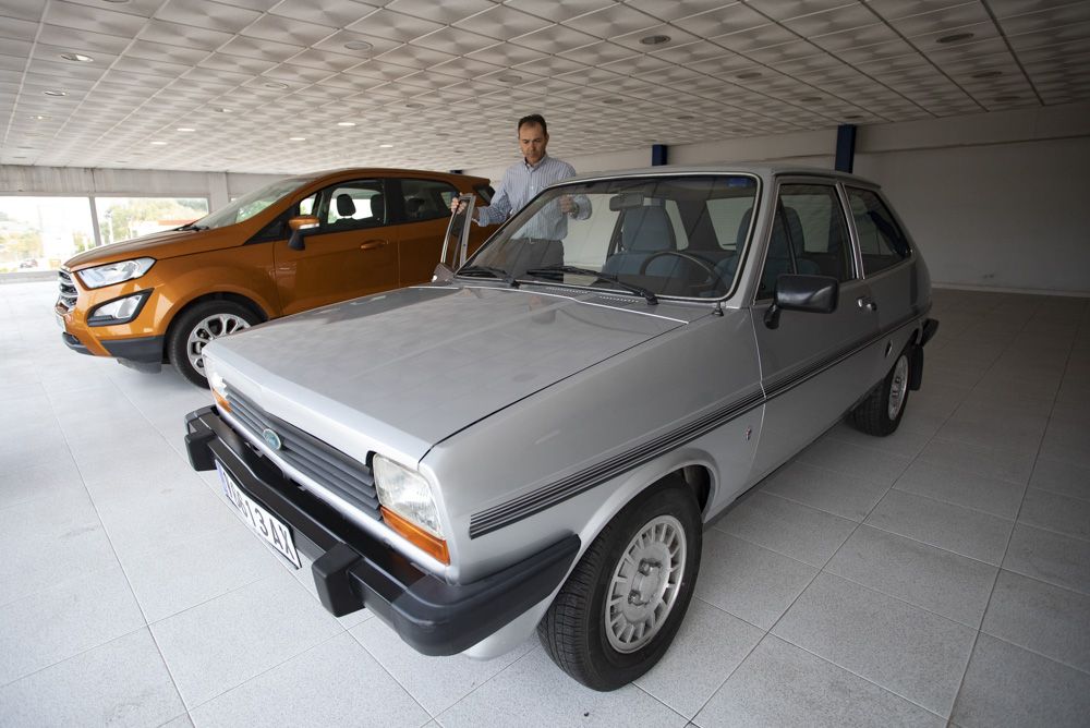
[[[81,253],[60,270],[64,343],[207,386],[202,350],[278,316],[427,281],[455,195],[488,180],[396,169],[293,177],[175,230]],[[470,251],[494,228],[472,227]]]

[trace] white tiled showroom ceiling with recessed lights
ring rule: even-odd
[[[11,165],[451,169],[535,111],[577,156],[1085,99],[1086,0],[0,0]]]

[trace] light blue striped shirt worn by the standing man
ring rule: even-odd
[[[517,214],[526,206],[538,192],[560,180],[567,180],[576,175],[576,168],[566,161],[545,155],[536,165],[530,165],[523,159],[511,165],[504,179],[499,183],[499,190],[492,198],[487,207],[479,209],[477,222],[480,225],[496,225],[505,222],[507,218]],[[550,208],[555,208],[552,210]],[[585,217],[579,215],[578,217]],[[528,229],[519,232],[523,238],[544,238],[548,240],[564,240],[568,234],[568,217],[560,213],[557,201],[553,201],[544,207]],[[533,229],[530,229],[533,228]]]

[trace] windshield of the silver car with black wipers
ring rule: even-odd
[[[535,197],[467,265],[522,282],[716,299],[731,289],[758,181],[748,174],[572,183]]]

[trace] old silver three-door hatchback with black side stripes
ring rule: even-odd
[[[930,290],[857,177],[577,178],[431,284],[209,343],[190,459],[334,615],[429,655],[536,630],[611,690],[669,647],[704,522],[845,413],[897,428]]]

